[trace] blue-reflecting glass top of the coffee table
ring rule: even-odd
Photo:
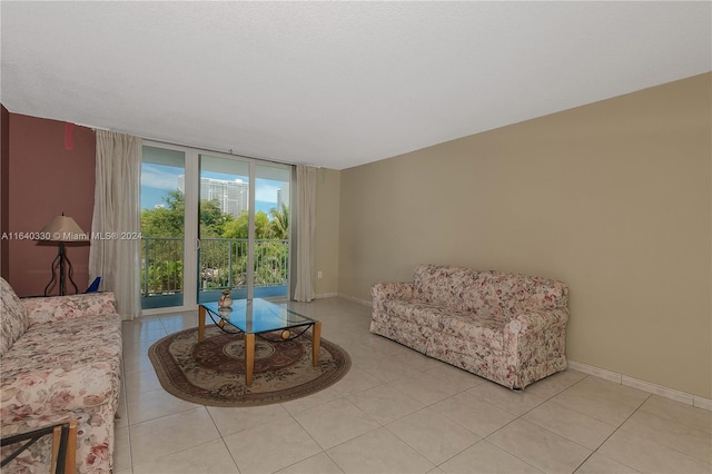
[[[231,308],[219,308],[217,302],[201,303],[200,306],[248,334],[287,329],[316,323],[316,320],[295,313],[286,306],[276,305],[261,298],[235,299]]]

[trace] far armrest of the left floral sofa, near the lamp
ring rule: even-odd
[[[116,313],[116,297],[111,292],[29,298],[22,303],[30,325]]]

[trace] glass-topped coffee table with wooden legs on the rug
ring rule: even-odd
[[[261,298],[236,299],[230,308],[219,308],[217,303],[202,303],[198,309],[198,343],[205,337],[208,316],[226,333],[245,334],[245,385],[253,384],[255,336],[261,333],[281,330],[281,338],[288,340],[312,327],[312,365],[316,367],[319,364],[322,322]]]

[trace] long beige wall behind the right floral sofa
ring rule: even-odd
[[[419,263],[561,279],[570,359],[712,398],[711,80],[342,171],[339,293]]]

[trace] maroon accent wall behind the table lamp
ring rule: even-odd
[[[65,122],[9,113],[9,230],[37,233],[65,213],[91,231],[96,138],[93,130],[73,127],[73,147],[65,147]],[[4,174],[3,174],[4,175]],[[4,201],[4,200],[3,200]],[[3,213],[4,215],[4,213]],[[8,282],[19,296],[42,295],[51,278],[58,246],[11,238]],[[79,292],[88,286],[89,244],[67,246]],[[69,285],[69,282],[67,282]],[[57,294],[57,287],[51,294]],[[68,293],[73,293],[69,285]]]

